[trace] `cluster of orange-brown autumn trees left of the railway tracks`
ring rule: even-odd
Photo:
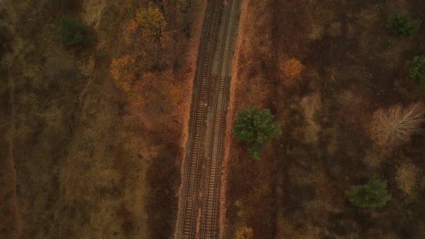
[[[176,114],[184,110],[182,101],[186,96],[182,89],[187,85],[177,81],[178,76],[170,68],[175,53],[168,51],[172,41],[163,13],[152,4],[142,7],[123,27],[123,36],[131,53],[112,60],[110,73],[115,82],[127,93],[131,108],[148,129],[175,129],[182,124]],[[170,114],[175,120],[168,119]]]

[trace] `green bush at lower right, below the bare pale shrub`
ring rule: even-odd
[[[387,181],[376,176],[363,185],[355,185],[345,191],[345,196],[356,206],[362,208],[381,208],[391,196],[387,193]]]

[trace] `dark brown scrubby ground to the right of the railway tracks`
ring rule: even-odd
[[[226,146],[226,231],[254,238],[424,238],[425,134],[382,148],[368,125],[378,108],[425,101],[405,62],[425,53],[424,26],[398,38],[387,19],[425,21],[424,1],[242,1]],[[253,10],[255,9],[255,10]],[[287,78],[284,61],[301,61]],[[229,124],[245,106],[271,108],[282,136],[247,157]],[[392,196],[356,208],[344,191],[373,174]]]

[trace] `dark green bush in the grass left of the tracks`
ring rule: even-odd
[[[59,36],[65,45],[86,45],[90,39],[90,29],[69,17],[62,17],[59,23]]]

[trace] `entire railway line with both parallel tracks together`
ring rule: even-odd
[[[210,4],[206,34],[194,82],[189,147],[180,189],[177,238],[216,238],[217,235],[219,168],[238,1],[212,0]],[[210,80],[212,77],[215,78],[214,82]],[[214,94],[208,94],[212,93],[208,92],[212,89]],[[208,101],[213,106],[211,112],[208,112]],[[205,125],[207,114],[208,127]],[[203,168],[202,172],[200,168]],[[203,198],[200,201],[201,186]]]

